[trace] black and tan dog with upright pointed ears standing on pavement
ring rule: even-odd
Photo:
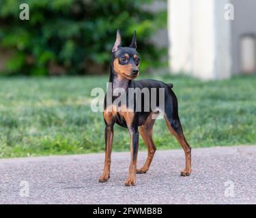
[[[171,90],[171,84],[165,84],[157,80],[137,80],[134,78],[139,76],[139,65],[140,58],[137,53],[137,40],[136,33],[134,33],[132,38],[132,43],[129,47],[122,47],[122,40],[119,30],[117,30],[117,37],[115,45],[112,50],[112,61],[111,61],[111,72],[109,82],[112,82],[113,87],[112,91],[112,100],[116,99],[117,96],[113,95],[113,91],[116,88],[123,88],[126,90],[126,95],[128,98],[128,88],[156,88],[157,90],[163,88],[165,90],[165,121],[167,127],[175,138],[180,142],[182,149],[184,150],[186,157],[186,166],[181,172],[181,176],[189,176],[191,172],[191,148],[186,142],[186,138],[183,134],[182,125],[178,116],[177,110],[177,97]],[[158,95],[157,95],[158,96]],[[136,97],[135,97],[136,98]],[[150,97],[151,99],[151,97]],[[143,98],[142,98],[143,101]],[[159,99],[157,99],[159,102]],[[125,182],[125,185],[135,185],[136,173],[145,173],[150,167],[154,153],[156,151],[156,146],[152,139],[153,125],[155,119],[153,119],[154,108],[151,108],[150,111],[143,111],[143,107],[140,112],[137,112],[135,108],[137,107],[136,103],[134,108],[129,108],[128,104],[119,105],[122,110],[117,110],[113,104],[106,103],[104,104],[104,122],[105,127],[105,161],[104,161],[104,172],[100,176],[99,181],[105,182],[109,179],[110,166],[111,166],[111,150],[113,142],[113,125],[117,123],[122,127],[128,128],[130,133],[130,151],[131,151],[131,161],[129,167],[128,178]],[[109,110],[111,108],[111,110]],[[139,147],[139,131],[143,138],[143,141],[147,145],[147,160],[145,161],[144,166],[137,170],[137,153]]]

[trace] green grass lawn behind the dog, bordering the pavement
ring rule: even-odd
[[[180,119],[192,147],[256,144],[256,77],[200,82],[185,76],[155,77],[173,82]],[[102,112],[91,112],[91,89],[107,76],[0,78],[0,157],[104,151]],[[158,149],[180,148],[165,121],[154,127]],[[128,151],[127,129],[115,125],[114,151]],[[140,149],[145,149],[140,139]]]

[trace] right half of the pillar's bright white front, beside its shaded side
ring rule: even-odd
[[[192,3],[192,60],[193,76],[215,78],[216,38],[214,16],[215,0],[194,0]]]

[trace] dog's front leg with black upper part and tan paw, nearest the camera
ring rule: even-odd
[[[130,167],[129,174],[125,185],[136,185],[136,171],[137,171],[137,154],[139,149],[139,131],[138,127],[129,127],[130,133]]]

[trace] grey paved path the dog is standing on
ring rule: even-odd
[[[139,166],[145,157],[139,153]],[[256,146],[193,149],[192,157],[191,176],[181,177],[183,151],[156,151],[135,187],[124,186],[130,153],[113,153],[107,183],[98,183],[102,153],[0,159],[0,203],[256,204]],[[27,184],[29,197],[21,197]]]

